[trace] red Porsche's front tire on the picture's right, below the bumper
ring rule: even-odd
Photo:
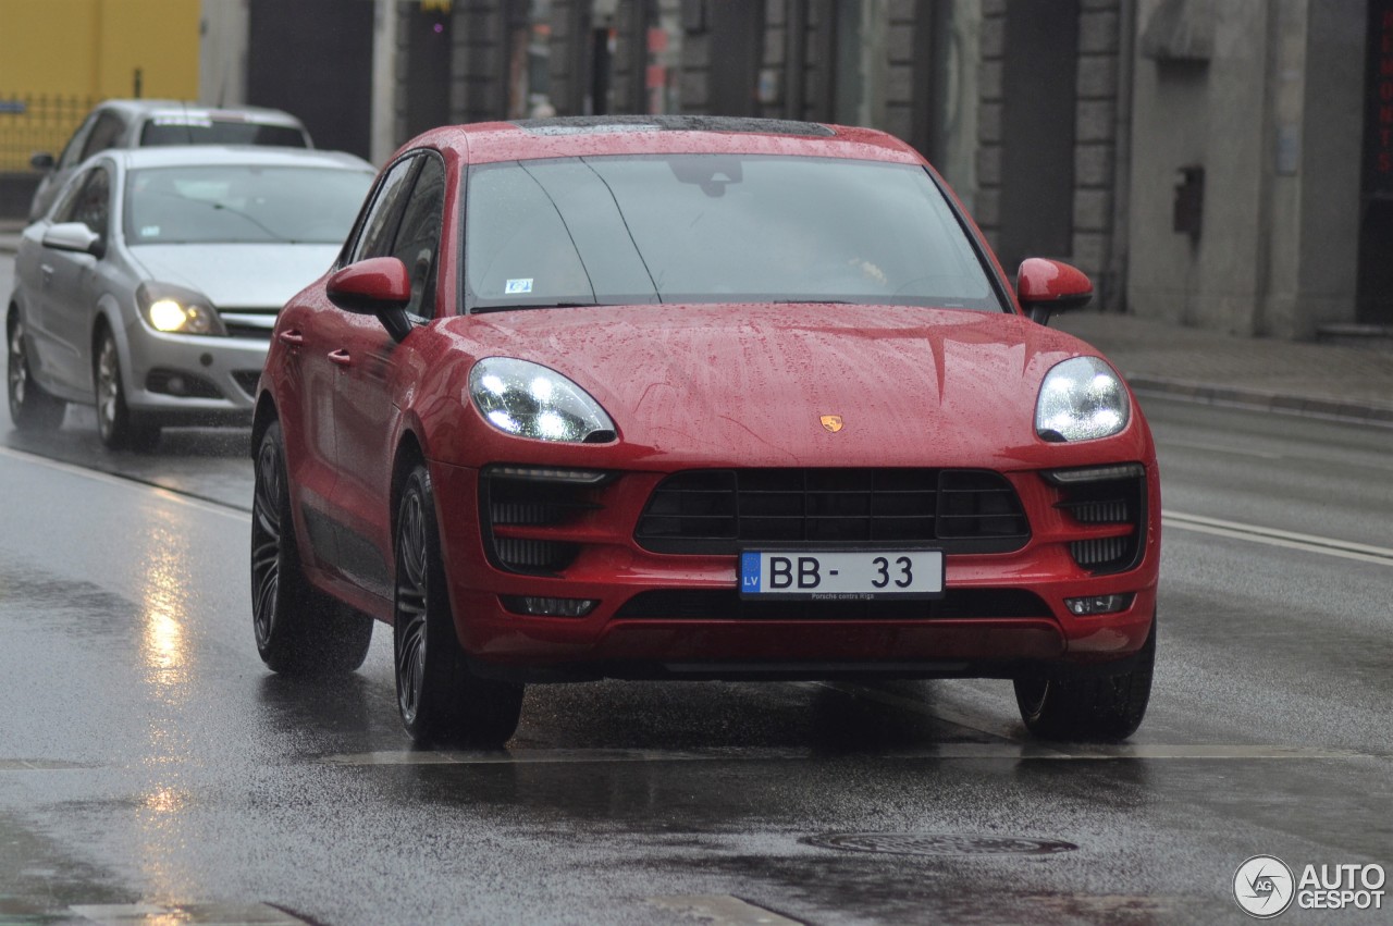
[[[1015,705],[1025,728],[1043,739],[1068,742],[1116,742],[1137,732],[1156,664],[1156,618],[1151,634],[1126,673],[1052,681],[1015,680]]]

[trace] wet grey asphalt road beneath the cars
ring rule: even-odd
[[[1393,432],[1145,405],[1130,744],[1034,741],[997,681],[606,682],[479,753],[407,748],[380,628],[348,680],[262,668],[247,432],[0,412],[0,923],[1245,922],[1251,855],[1393,866]]]

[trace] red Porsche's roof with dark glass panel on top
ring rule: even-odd
[[[453,148],[469,163],[599,155],[738,153],[922,164],[907,143],[869,128],[723,116],[573,116],[474,123],[407,143]]]

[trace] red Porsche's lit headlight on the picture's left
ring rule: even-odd
[[[469,373],[479,414],[501,432],[536,440],[614,440],[614,422],[584,389],[556,370],[507,356],[489,356]]]

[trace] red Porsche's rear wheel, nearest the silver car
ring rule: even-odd
[[[368,657],[372,618],[305,578],[286,479],[286,443],[272,422],[256,447],[252,487],[252,629],[266,667],[288,675],[351,673]]]

